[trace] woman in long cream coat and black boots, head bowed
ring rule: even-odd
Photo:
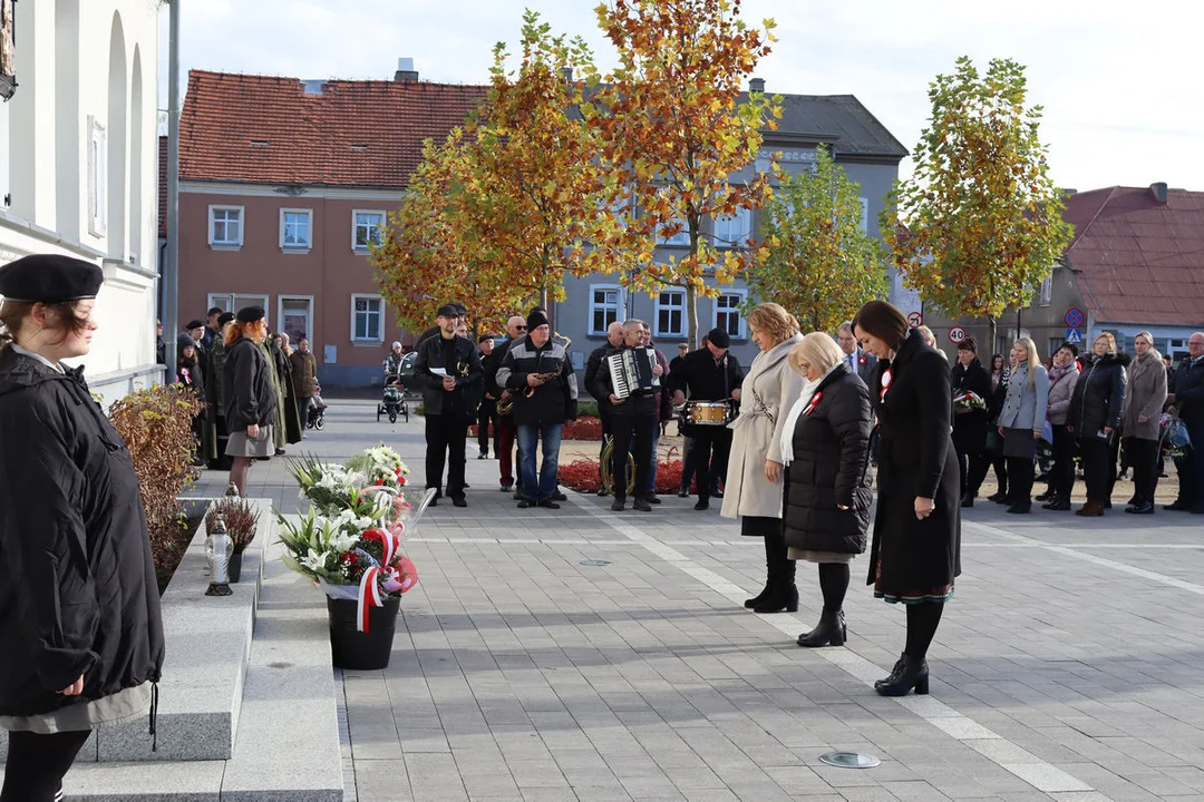
[[[765,539],[765,588],[744,606],[761,613],[795,612],[795,563],[786,557],[781,530],[780,444],[785,412],[803,386],[787,357],[803,337],[795,316],[775,303],[754,309],[748,325],[761,352],[742,385],[740,416],[731,423],[732,450],[720,515],[742,518],[742,535]]]

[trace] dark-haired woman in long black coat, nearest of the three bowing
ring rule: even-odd
[[[884,301],[862,307],[852,331],[878,357],[869,387],[881,451],[868,583],[877,598],[907,605],[903,655],[874,688],[884,696],[902,696],[913,688],[926,694],[925,657],[961,574],[949,363]]]

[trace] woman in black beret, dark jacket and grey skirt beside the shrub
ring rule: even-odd
[[[259,347],[266,338],[267,325],[261,307],[240,309],[225,334],[228,352],[222,369],[222,388],[230,432],[226,456],[234,458],[230,481],[243,497],[247,495],[250,461],[271,457],[276,451],[272,439],[272,426],[276,423],[272,366]]]

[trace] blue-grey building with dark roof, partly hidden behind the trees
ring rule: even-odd
[[[754,83],[754,88],[761,87]],[[907,149],[852,95],[784,95],[783,117],[777,130],[765,131],[757,165],[768,166],[771,155],[777,153],[786,172],[802,173],[814,168],[815,149],[821,144],[858,185],[863,227],[880,238],[878,218],[898,178],[899,161]],[[756,238],[760,213],[745,212],[718,224],[708,221],[704,230],[713,232],[716,225],[724,239],[738,239],[733,234]],[[684,255],[686,242],[684,234],[675,242],[662,242],[657,253]],[[732,338],[732,354],[748,367],[757,354],[739,311],[748,297],[748,286],[744,280],[737,280],[716,289],[718,297],[698,299],[698,335],[716,326],[724,328]],[[624,287],[619,274],[597,273],[584,278],[566,277],[565,301],[554,304],[551,313],[557,333],[572,340],[569,355],[574,367],[583,369],[590,351],[606,343],[607,326],[630,317],[648,321],[657,347],[673,358],[678,344],[686,341],[690,310],[681,287],[662,287],[648,295]]]

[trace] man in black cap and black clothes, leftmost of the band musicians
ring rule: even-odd
[[[426,418],[426,487],[436,489],[437,500],[445,458],[447,494],[452,504],[464,507],[468,506],[464,497],[465,439],[471,404],[480,391],[482,368],[472,340],[455,333],[459,317],[452,304],[439,307],[439,335],[427,338],[418,349],[414,380],[423,387]]]

